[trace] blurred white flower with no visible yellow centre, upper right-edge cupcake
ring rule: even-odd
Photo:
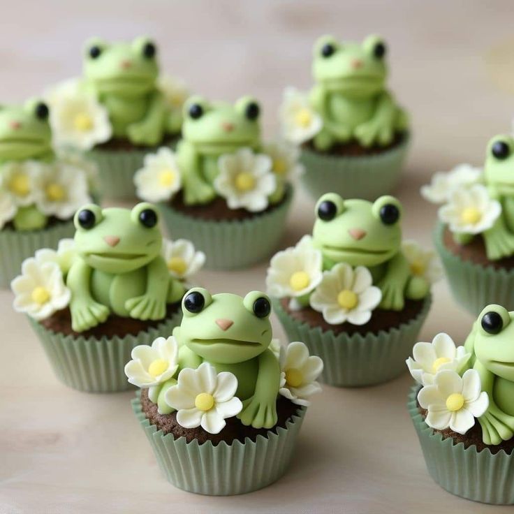
[[[475,168],[470,164],[460,164],[448,172],[438,171],[430,184],[421,187],[421,196],[432,203],[445,203],[456,189],[476,184],[480,175],[482,168]]]

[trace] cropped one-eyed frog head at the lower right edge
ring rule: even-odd
[[[491,373],[514,382],[514,312],[487,305],[475,325],[473,350]]]

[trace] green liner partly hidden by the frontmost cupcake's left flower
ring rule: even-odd
[[[133,389],[124,373],[132,348],[152,344],[156,337],[170,336],[181,319],[182,313],[177,312],[157,327],[138,335],[101,339],[63,335],[48,330],[32,318],[29,321],[57,378],[66,386],[85,392],[118,392]]]

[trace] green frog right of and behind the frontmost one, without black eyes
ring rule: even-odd
[[[367,267],[382,291],[382,309],[401,311],[405,298],[420,300],[427,296],[429,284],[413,276],[402,252],[402,204],[396,198],[381,196],[372,203],[343,200],[337,193],[327,193],[318,200],[316,213],[324,202],[335,205],[335,216],[327,221],[318,216],[312,234],[326,270],[337,263]],[[381,211],[390,207],[400,215],[388,224],[381,219]]]

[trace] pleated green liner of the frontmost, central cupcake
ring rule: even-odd
[[[154,450],[166,480],[189,492],[210,496],[229,496],[256,491],[278,480],[291,462],[295,442],[307,409],[267,436],[258,435],[256,441],[245,439],[225,441],[214,446],[210,441],[186,443],[184,437],[174,439],[163,435],[142,412],[140,391],[132,400],[132,408]]]

